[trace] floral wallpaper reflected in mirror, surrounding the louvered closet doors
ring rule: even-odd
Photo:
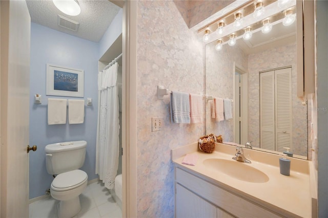
[[[308,155],[307,108],[297,98],[297,56],[296,43],[249,55],[249,104],[259,105],[259,72],[292,66],[292,113],[293,145],[292,152]],[[259,145],[259,107],[249,110],[249,138],[254,145]]]

